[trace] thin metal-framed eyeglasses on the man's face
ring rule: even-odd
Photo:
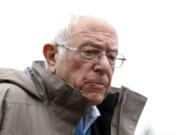
[[[106,55],[110,66],[113,68],[120,68],[123,65],[124,61],[126,60],[124,55],[119,54],[116,51],[103,53],[102,50],[90,46],[82,47],[82,48],[72,48],[63,44],[61,45],[57,44],[57,46],[78,53],[85,62],[89,62],[89,63],[97,63],[99,61],[100,56]]]

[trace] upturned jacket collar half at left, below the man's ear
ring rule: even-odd
[[[88,106],[88,100],[81,95],[80,90],[48,72],[44,63],[42,61],[33,62],[32,68],[29,69],[29,75],[41,99],[82,115]]]

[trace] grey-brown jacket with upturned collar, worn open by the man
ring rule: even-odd
[[[33,63],[26,73],[0,70],[0,135],[74,135],[87,99],[42,65]],[[113,93],[109,134],[133,135],[146,98],[125,87]]]

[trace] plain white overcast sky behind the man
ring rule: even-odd
[[[114,25],[127,61],[112,85],[148,97],[135,135],[179,135],[179,0],[0,0],[0,67],[23,70],[44,59],[42,47],[67,14]]]

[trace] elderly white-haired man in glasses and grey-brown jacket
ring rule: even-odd
[[[111,88],[114,69],[125,58],[110,24],[72,16],[43,54],[46,64],[0,70],[1,135],[134,133],[146,98]]]

